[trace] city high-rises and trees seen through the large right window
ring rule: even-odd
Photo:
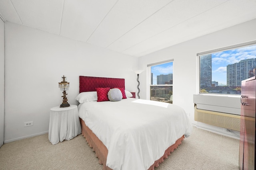
[[[245,59],[226,66],[226,86],[212,81],[212,55],[200,57],[200,90],[202,93],[241,94],[241,81],[256,76],[256,59]]]

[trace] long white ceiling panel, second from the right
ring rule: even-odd
[[[227,0],[226,0],[227,1]],[[126,49],[141,43],[144,40],[157,35],[175,25],[189,20],[219,4],[224,0],[202,1],[202,0],[178,0],[173,1],[162,10],[150,16],[143,23],[130,30],[117,41],[108,46],[114,51],[125,51]],[[177,33],[176,33],[177,34]]]

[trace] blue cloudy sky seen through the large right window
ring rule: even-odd
[[[256,45],[212,54],[212,81],[227,84],[227,65],[256,58]]]

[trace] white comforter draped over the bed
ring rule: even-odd
[[[86,102],[79,117],[108,149],[113,170],[147,170],[192,125],[174,104],[134,98],[119,102]]]

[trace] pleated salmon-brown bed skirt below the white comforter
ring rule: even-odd
[[[106,160],[108,155],[108,149],[106,146],[96,137],[96,135],[86,126],[84,121],[80,118],[80,123],[82,126],[82,135],[86,138],[86,141],[88,145],[92,148],[92,150],[95,152],[96,156],[99,158],[99,163],[103,164],[103,170],[112,170],[108,166],[106,166]],[[174,143],[172,146],[170,146],[168,149],[165,150],[164,155],[156,160],[154,164],[150,166],[148,170],[154,170],[155,167],[159,166],[159,163],[164,162],[164,159],[167,158],[171,152],[174,151],[180,144],[181,141],[184,139],[184,135],[180,137],[176,143]]]

